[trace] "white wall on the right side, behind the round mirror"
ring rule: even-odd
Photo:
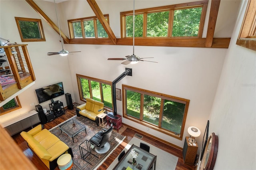
[[[236,45],[248,1],[242,1],[210,116],[218,135],[216,170],[256,169],[256,51]]]

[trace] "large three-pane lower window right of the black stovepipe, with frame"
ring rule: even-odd
[[[122,85],[123,117],[182,140],[190,100]]]

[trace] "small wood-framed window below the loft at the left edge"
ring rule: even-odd
[[[21,105],[20,105],[19,98],[17,96],[17,97],[14,97],[12,100],[10,100],[5,105],[3,105],[2,107],[0,107],[0,113],[1,113],[0,115],[10,113],[10,112],[15,111],[20,108],[21,108]]]

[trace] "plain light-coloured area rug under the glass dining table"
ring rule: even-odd
[[[145,144],[148,144],[150,146],[150,153],[157,156],[156,158],[156,169],[157,170],[175,170],[178,157],[174,156],[156,146],[153,146],[152,144],[149,144],[147,142],[144,142],[143,140],[140,140],[139,138],[133,137],[132,140],[125,146],[124,150],[125,152],[132,146],[132,144],[136,146],[140,146],[140,142],[143,142]],[[118,158],[116,158],[112,164],[108,167],[107,170],[112,170],[114,166],[118,163]]]

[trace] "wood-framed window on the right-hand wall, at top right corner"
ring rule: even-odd
[[[249,0],[237,45],[256,51],[256,1]]]

